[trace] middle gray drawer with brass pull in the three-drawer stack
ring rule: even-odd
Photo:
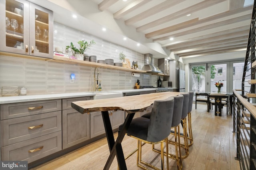
[[[61,111],[1,121],[1,146],[61,131]]]

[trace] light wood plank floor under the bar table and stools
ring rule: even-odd
[[[214,111],[206,112],[206,105],[198,104],[192,109],[192,131],[194,144],[189,148],[189,156],[184,159],[183,170],[240,170],[236,156],[236,139],[232,133],[232,115],[214,116]],[[117,134],[115,134],[115,138]],[[172,138],[170,135],[169,138]],[[125,136],[122,141],[124,155],[136,148],[137,141]],[[156,145],[156,147],[159,147]],[[169,145],[173,151],[174,146]],[[102,170],[109,155],[106,138],[70,152],[52,161],[32,168],[33,170]],[[151,150],[151,145],[142,147],[142,159],[161,167],[160,155]],[[165,161],[166,162],[166,161]],[[170,169],[177,169],[176,162],[169,159]],[[136,166],[136,154],[126,160],[128,170],[140,170]],[[114,158],[111,170],[117,170]]]

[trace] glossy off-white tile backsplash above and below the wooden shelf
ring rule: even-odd
[[[54,23],[54,47],[65,49],[70,42],[77,45],[81,39],[94,39],[96,44],[86,51],[86,55],[96,55],[97,60],[111,58],[118,62],[118,54],[123,51],[131,62],[138,61],[141,67],[144,65],[144,54]],[[153,59],[153,65],[157,66],[158,61]],[[70,82],[72,73],[76,76],[73,83]],[[93,77],[94,67],[0,56],[0,87],[26,87],[27,94],[90,92]],[[142,86],[156,86],[158,76],[141,73],[140,77],[132,77],[132,72],[99,68],[98,78],[102,80],[102,91],[107,91],[133,89],[137,79]]]

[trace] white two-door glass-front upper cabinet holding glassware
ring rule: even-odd
[[[26,0],[0,0],[0,14],[0,51],[53,58],[52,11]]]

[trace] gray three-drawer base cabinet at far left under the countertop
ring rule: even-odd
[[[1,104],[1,160],[30,163],[62,150],[61,101]]]

